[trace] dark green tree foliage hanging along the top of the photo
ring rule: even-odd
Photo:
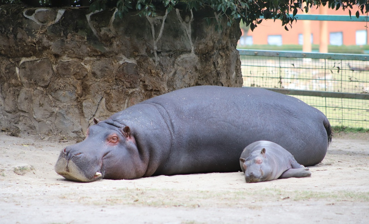
[[[0,0],[0,3],[18,3],[20,0]],[[368,0],[21,0],[31,6],[88,6],[91,11],[116,7],[115,16],[122,18],[124,13],[136,11],[140,16],[155,17],[159,10],[186,8],[197,11],[203,7],[211,7],[218,14],[210,19],[219,20],[227,17],[227,25],[241,20],[246,26],[254,30],[264,19],[281,20],[287,29],[287,24],[296,21],[295,15],[299,10],[306,13],[310,8],[326,6],[332,9],[348,10],[351,16],[355,13],[368,16]],[[303,6],[303,3],[306,3]],[[290,14],[292,12],[292,14]]]

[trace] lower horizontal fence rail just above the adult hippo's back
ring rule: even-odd
[[[262,87],[249,87],[249,88],[262,88]],[[325,91],[312,91],[312,90],[290,90],[280,88],[263,88],[274,92],[279,92],[285,95],[299,95],[310,97],[330,97],[330,98],[345,98],[345,99],[369,99],[369,94],[363,93],[349,93],[349,92],[325,92]]]

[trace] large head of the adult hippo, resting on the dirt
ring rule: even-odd
[[[92,182],[134,179],[142,177],[146,169],[130,128],[99,122],[87,129],[85,140],[61,151],[55,171],[69,180]]]

